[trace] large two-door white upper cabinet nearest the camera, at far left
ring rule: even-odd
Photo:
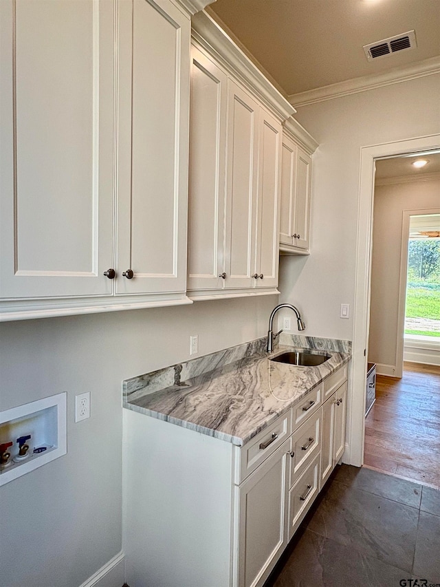
[[[0,320],[190,303],[187,4],[2,1]]]

